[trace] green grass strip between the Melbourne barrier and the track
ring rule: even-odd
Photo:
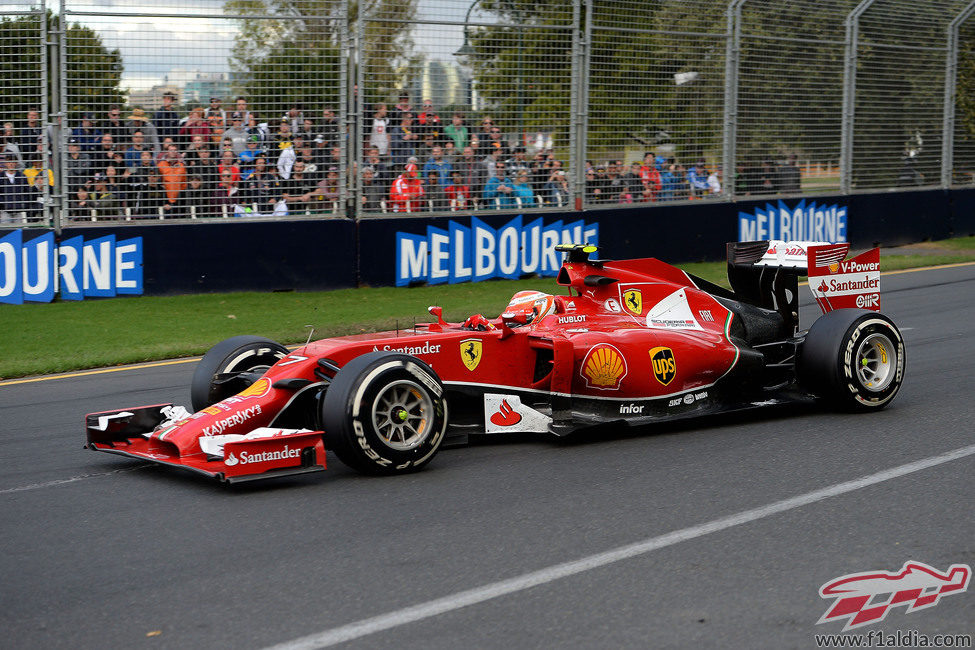
[[[950,243],[949,243],[950,242]],[[975,237],[938,242],[924,255],[881,256],[885,271],[975,261]],[[723,262],[682,264],[689,273],[727,286]],[[447,320],[497,315],[523,289],[562,293],[554,279],[451,286],[342,289],[300,293],[134,296],[112,300],[0,308],[0,379],[199,355],[237,334],[282,343],[408,327],[426,322],[429,305]],[[557,290],[557,291],[556,291]]]

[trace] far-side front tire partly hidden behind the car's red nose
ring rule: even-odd
[[[270,368],[288,354],[288,348],[277,341],[244,334],[224,339],[203,355],[193,371],[190,383],[190,403],[194,411],[226,399],[243,390],[236,382],[225,388],[214,384],[217,375],[228,372],[247,372],[255,368]]]

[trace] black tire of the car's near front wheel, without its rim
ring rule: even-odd
[[[410,449],[386,442],[373,422],[373,404],[381,392],[407,382],[432,406],[421,439]],[[416,471],[440,449],[447,430],[443,383],[426,363],[398,352],[370,352],[356,357],[335,375],[321,401],[325,447],[339,460],[366,474]]]

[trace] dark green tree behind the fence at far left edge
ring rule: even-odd
[[[46,14],[48,32],[57,28],[58,18]],[[41,40],[40,13],[0,20],[0,112],[4,120],[23,119],[31,109],[41,107]],[[123,104],[125,93],[120,88],[122,56],[117,49],[109,50],[90,27],[72,24],[62,42],[66,48],[68,97],[65,105],[71,112],[86,110],[98,104]],[[48,61],[49,70],[57,70],[57,60]],[[48,74],[49,83],[57,83],[56,73]],[[48,105],[51,105],[48,95]]]

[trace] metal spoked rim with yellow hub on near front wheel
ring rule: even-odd
[[[372,405],[372,423],[391,449],[405,451],[422,443],[433,418],[433,401],[412,381],[389,384]]]

